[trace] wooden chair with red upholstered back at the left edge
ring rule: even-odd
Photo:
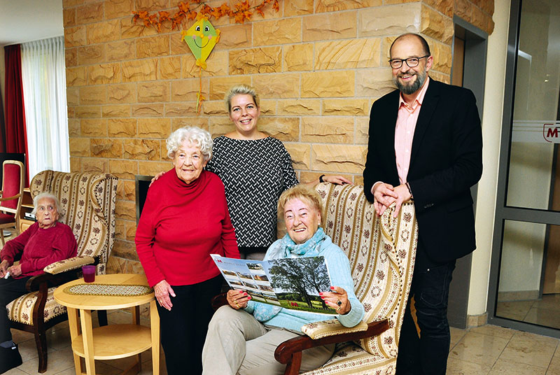
[[[3,229],[15,228],[20,234],[20,210],[22,208],[25,169],[22,162],[4,160],[2,163],[2,191],[0,192],[0,241],[4,246]]]

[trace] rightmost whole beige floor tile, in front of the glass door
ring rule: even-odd
[[[548,367],[559,340],[527,332],[517,332],[505,347],[501,360]]]

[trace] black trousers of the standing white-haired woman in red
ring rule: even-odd
[[[176,297],[167,311],[158,305],[167,374],[202,374],[202,347],[214,315],[211,299],[221,290],[221,275],[193,285],[172,285]]]

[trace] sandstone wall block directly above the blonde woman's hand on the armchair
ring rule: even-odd
[[[311,145],[311,169],[343,174],[361,174],[367,146]]]

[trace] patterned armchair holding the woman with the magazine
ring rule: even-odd
[[[418,240],[414,204],[403,204],[397,218],[394,206],[379,218],[363,186],[321,183],[316,190],[323,198],[325,232],[349,257],[364,322],[353,328],[336,320],[311,323],[302,328],[307,336],[284,341],[274,356],[286,363],[285,374],[298,374],[302,350],[339,343],[323,367],[304,374],[395,374]]]

